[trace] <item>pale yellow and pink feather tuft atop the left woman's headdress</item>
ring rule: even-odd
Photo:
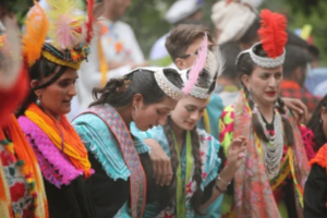
[[[85,41],[85,17],[75,0],[47,0],[50,5],[50,38],[53,46],[65,50]]]

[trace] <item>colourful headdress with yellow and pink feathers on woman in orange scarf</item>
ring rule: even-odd
[[[47,0],[47,3],[50,40],[44,44],[41,55],[59,65],[78,70],[89,53],[94,0],[87,0],[87,21],[75,0]]]

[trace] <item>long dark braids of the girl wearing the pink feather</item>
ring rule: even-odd
[[[203,73],[199,75],[196,86],[202,87],[202,88],[209,88],[211,86],[211,77],[208,75],[207,71],[203,71]],[[165,130],[165,135],[167,137],[169,148],[170,148],[170,159],[171,159],[171,166],[173,172],[177,172],[178,166],[179,166],[179,159],[177,156],[177,150],[175,150],[175,145],[174,145],[174,140],[172,136],[172,119],[169,116],[167,119],[167,123],[164,126]],[[201,183],[202,183],[202,160],[199,156],[199,137],[197,133],[197,128],[196,125],[191,130],[191,140],[192,140],[192,155],[194,158],[194,174],[193,174],[193,180],[196,182],[196,191],[191,197],[191,205],[195,213],[202,215],[199,211],[199,206],[203,204],[203,197],[204,193],[201,189]]]

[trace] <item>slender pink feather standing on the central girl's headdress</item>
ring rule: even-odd
[[[197,58],[193,63],[191,71],[189,73],[189,80],[185,83],[185,86],[183,87],[183,93],[185,95],[189,95],[191,90],[194,88],[197,82],[197,77],[205,66],[206,59],[207,59],[207,51],[208,51],[208,36],[207,34],[205,34],[202,46],[197,51]]]

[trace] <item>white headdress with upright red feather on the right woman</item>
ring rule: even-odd
[[[262,26],[258,31],[261,43],[255,44],[250,49],[238,56],[237,64],[244,53],[250,53],[253,62],[262,68],[272,69],[283,64],[286,50],[284,45],[288,40],[286,33],[287,19],[269,10],[263,10],[261,13]],[[263,47],[268,57],[257,55],[257,49]]]

